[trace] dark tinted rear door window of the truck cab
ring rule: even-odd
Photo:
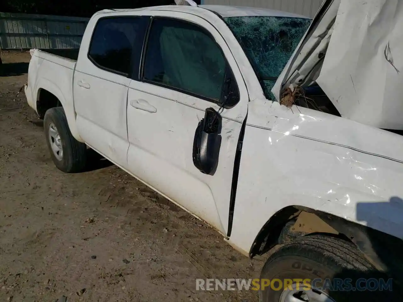
[[[99,68],[123,75],[129,75],[132,69],[133,74],[137,72],[138,77],[149,19],[149,17],[100,19],[93,31],[88,58]]]

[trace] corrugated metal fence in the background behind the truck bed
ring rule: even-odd
[[[0,49],[80,47],[88,18],[0,12]]]

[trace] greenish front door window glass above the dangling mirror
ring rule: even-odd
[[[143,81],[217,102],[225,71],[224,54],[208,31],[175,19],[152,21]]]

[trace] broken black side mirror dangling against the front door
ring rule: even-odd
[[[207,108],[199,122],[193,141],[193,164],[200,172],[214,175],[221,147],[222,118],[213,108]]]

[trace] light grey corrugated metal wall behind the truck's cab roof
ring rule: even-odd
[[[254,6],[315,17],[323,0],[202,0],[203,4]]]

